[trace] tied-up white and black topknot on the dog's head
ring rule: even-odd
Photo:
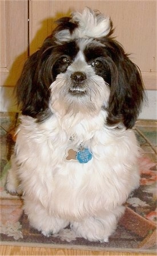
[[[63,19],[59,19],[58,23],[63,26]],[[78,38],[101,38],[111,35],[113,32],[110,17],[99,11],[91,10],[89,7],[86,7],[82,13],[79,11],[72,13],[71,18],[68,21],[66,20],[66,25],[67,27],[63,26],[62,30],[60,26],[60,31],[55,35],[59,41],[70,41]]]

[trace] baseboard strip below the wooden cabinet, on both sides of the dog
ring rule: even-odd
[[[157,119],[157,91],[147,90],[147,103],[142,108],[139,119]],[[14,98],[14,87],[0,87],[0,111],[17,112],[17,104]]]

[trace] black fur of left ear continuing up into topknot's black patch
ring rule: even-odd
[[[71,23],[68,17],[59,19],[57,23],[57,28],[45,39],[41,49],[27,59],[16,86],[18,106],[22,114],[37,118],[38,121],[42,121],[43,116],[49,117],[52,114],[48,104],[49,87],[54,80],[52,52],[57,46],[55,33],[63,29],[69,29],[72,32],[78,26]]]

